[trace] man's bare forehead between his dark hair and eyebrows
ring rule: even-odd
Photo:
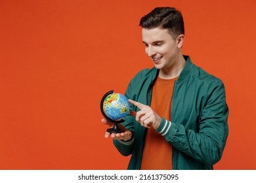
[[[154,29],[142,28],[142,42],[148,44],[156,41],[169,41],[173,39],[168,31],[168,29],[161,29],[159,27]]]

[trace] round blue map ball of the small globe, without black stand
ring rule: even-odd
[[[127,97],[120,93],[107,95],[102,107],[106,116],[114,121],[123,119],[130,112],[130,104]]]

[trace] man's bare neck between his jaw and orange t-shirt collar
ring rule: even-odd
[[[167,67],[165,69],[160,69],[160,72],[159,72],[160,78],[163,78],[163,79],[176,78],[177,76],[179,76],[181,74],[181,71],[182,71],[185,63],[186,63],[186,60],[181,55],[181,57],[179,57],[177,59],[177,61],[175,61],[175,63],[173,63],[173,65],[170,65],[169,67]]]

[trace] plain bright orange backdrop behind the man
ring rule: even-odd
[[[254,0],[0,0],[0,169],[126,169],[100,99],[153,67],[139,20],[166,6],[184,16],[184,54],[226,86],[215,169],[256,169]]]

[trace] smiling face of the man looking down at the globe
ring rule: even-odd
[[[168,29],[142,29],[142,42],[145,44],[146,54],[160,71],[179,64],[179,58],[182,56],[182,42],[179,37],[173,39]]]

